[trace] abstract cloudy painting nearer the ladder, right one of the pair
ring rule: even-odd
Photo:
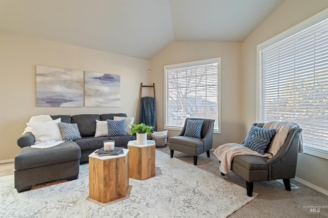
[[[85,72],[85,107],[120,107],[120,76]]]

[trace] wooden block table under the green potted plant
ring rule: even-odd
[[[131,179],[145,180],[155,176],[155,146],[153,140],[147,140],[147,144],[137,144],[137,140],[128,142]]]

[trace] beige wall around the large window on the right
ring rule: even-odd
[[[242,119],[243,134],[257,120],[256,46],[328,8],[327,0],[286,0],[242,43]],[[299,154],[296,177],[328,191],[328,160]]]

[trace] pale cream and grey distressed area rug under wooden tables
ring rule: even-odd
[[[253,200],[245,188],[156,150],[156,176],[130,179],[125,198],[106,204],[89,195],[89,165],[78,179],[18,193],[0,177],[1,217],[227,217]]]

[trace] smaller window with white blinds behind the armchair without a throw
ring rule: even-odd
[[[181,130],[187,117],[215,119],[220,133],[220,58],[174,64],[165,71],[165,128]]]

